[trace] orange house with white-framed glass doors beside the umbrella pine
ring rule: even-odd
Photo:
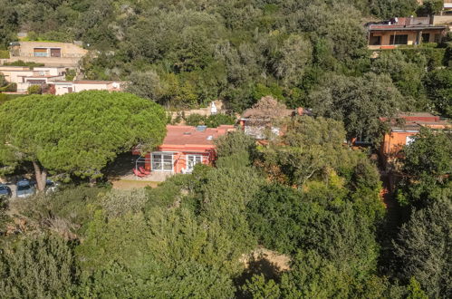
[[[196,164],[212,165],[216,159],[214,140],[234,126],[167,126],[167,136],[155,151],[137,160],[137,165],[151,172],[191,173]],[[139,150],[133,150],[139,155]]]

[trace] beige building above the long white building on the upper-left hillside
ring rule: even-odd
[[[14,42],[10,47],[9,63],[44,63],[45,66],[75,67],[88,50],[74,43]]]

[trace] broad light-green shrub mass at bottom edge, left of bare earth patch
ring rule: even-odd
[[[225,256],[218,252],[207,256],[207,250],[214,249],[206,247],[216,237],[213,232],[197,225],[185,210],[153,209],[148,218],[127,213],[105,221],[101,212],[96,213],[85,242],[77,248],[83,261],[82,295],[232,295],[231,280],[216,264]]]

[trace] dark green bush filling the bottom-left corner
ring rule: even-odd
[[[2,298],[66,297],[78,280],[72,246],[58,236],[28,236],[0,255]]]

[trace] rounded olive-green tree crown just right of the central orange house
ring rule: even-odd
[[[340,121],[299,116],[283,126],[284,135],[263,150],[264,166],[276,179],[302,187],[308,179],[345,163],[345,130]]]

